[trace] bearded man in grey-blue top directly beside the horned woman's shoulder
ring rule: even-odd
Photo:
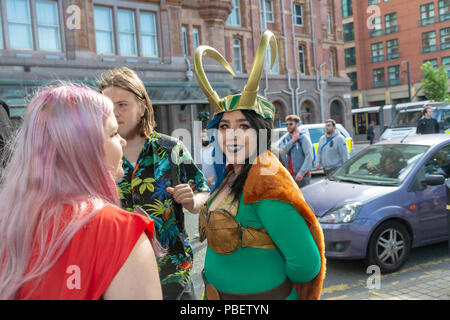
[[[306,134],[299,131],[300,118],[291,114],[286,117],[288,133],[278,143],[278,148],[283,153],[283,160],[289,173],[298,186],[304,187],[311,182],[312,170],[312,143]]]

